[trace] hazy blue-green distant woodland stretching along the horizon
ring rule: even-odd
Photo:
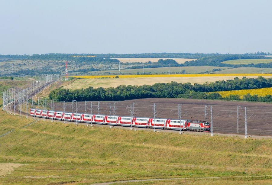
[[[96,57],[72,57],[72,56],[96,56]],[[175,60],[160,59],[158,62],[151,63],[145,62],[134,62],[130,63],[130,69],[138,69],[142,68],[143,64],[145,64],[145,68],[152,67],[187,67],[187,66],[215,66],[215,67],[264,67],[264,68],[272,68],[271,63],[258,63],[258,64],[227,64],[222,63],[226,60],[236,60],[236,59],[272,59],[271,57],[264,57],[262,55],[271,55],[270,53],[257,52],[257,53],[245,53],[245,54],[190,54],[190,53],[151,53],[151,54],[34,54],[34,55],[0,55],[0,62],[10,61],[10,60],[56,60],[56,61],[73,61],[78,66],[83,65],[102,65],[107,66],[106,70],[116,69],[119,65],[119,60],[113,58],[188,58],[189,60],[183,64],[178,64]],[[112,67],[115,65],[115,67]],[[129,63],[122,63],[122,65],[126,65],[123,69],[128,69]],[[111,66],[111,67],[109,67]],[[60,67],[60,66],[57,66]],[[63,68],[63,66],[61,66]],[[94,66],[89,66],[84,69],[72,70],[70,72],[82,72],[86,73],[88,71],[99,71],[102,68],[94,68]],[[48,71],[47,67],[41,68],[40,72],[37,73],[37,69],[21,69],[15,71],[12,75],[37,75],[37,74],[53,74],[53,73],[61,73],[61,68]],[[8,74],[6,74],[8,75]]]

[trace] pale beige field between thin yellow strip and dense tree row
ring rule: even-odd
[[[270,74],[271,75],[271,74]],[[131,75],[133,76],[133,75]],[[135,75],[136,76],[136,75]],[[137,75],[140,76],[140,75]],[[240,76],[239,78],[241,78]],[[246,76],[251,78],[257,78],[258,76]],[[272,76],[264,76],[265,78],[269,78]],[[142,77],[142,78],[96,78],[96,79],[88,79],[81,78],[76,79],[74,82],[70,83],[67,86],[63,86],[63,88],[68,89],[81,89],[87,88],[89,86],[97,87],[117,87],[119,85],[153,85],[155,83],[170,83],[171,81],[175,81],[178,83],[205,83],[205,82],[215,82],[219,80],[232,80],[235,76],[196,76],[196,77]]]

